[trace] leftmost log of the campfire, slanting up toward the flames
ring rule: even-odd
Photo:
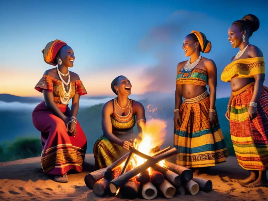
[[[96,181],[100,180],[101,178],[104,177],[104,173],[105,171],[109,168],[109,169],[114,169],[116,168],[118,165],[120,165],[122,162],[124,162],[126,160],[126,158],[128,157],[129,153],[125,154],[124,156],[122,156],[120,159],[118,159],[117,161],[115,161],[113,164],[111,164],[109,167],[107,168],[102,168],[99,170],[96,170],[94,172],[88,173],[85,176],[85,185],[90,188],[93,189],[93,185],[96,183]]]

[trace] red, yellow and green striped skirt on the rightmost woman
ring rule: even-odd
[[[254,83],[233,92],[230,133],[239,165],[246,170],[268,169],[268,88],[263,86],[257,117],[250,121],[248,107]]]

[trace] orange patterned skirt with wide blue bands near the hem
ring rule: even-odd
[[[215,123],[209,119],[209,94],[184,99],[180,106],[181,125],[174,126],[174,147],[177,164],[187,168],[215,166],[225,162],[228,152],[216,114]]]

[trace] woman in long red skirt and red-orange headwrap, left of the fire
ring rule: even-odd
[[[33,110],[32,122],[41,132],[44,173],[54,175],[57,182],[68,182],[69,170],[82,171],[87,149],[87,139],[76,120],[80,95],[87,91],[79,76],[68,70],[75,60],[71,47],[54,40],[42,53],[47,64],[58,66],[46,70],[35,86],[37,91],[43,92],[44,101]]]

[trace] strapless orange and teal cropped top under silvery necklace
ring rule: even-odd
[[[194,68],[191,71],[186,71],[183,68],[177,75],[176,84],[195,84],[199,86],[206,86],[208,84],[207,72],[200,68]]]

